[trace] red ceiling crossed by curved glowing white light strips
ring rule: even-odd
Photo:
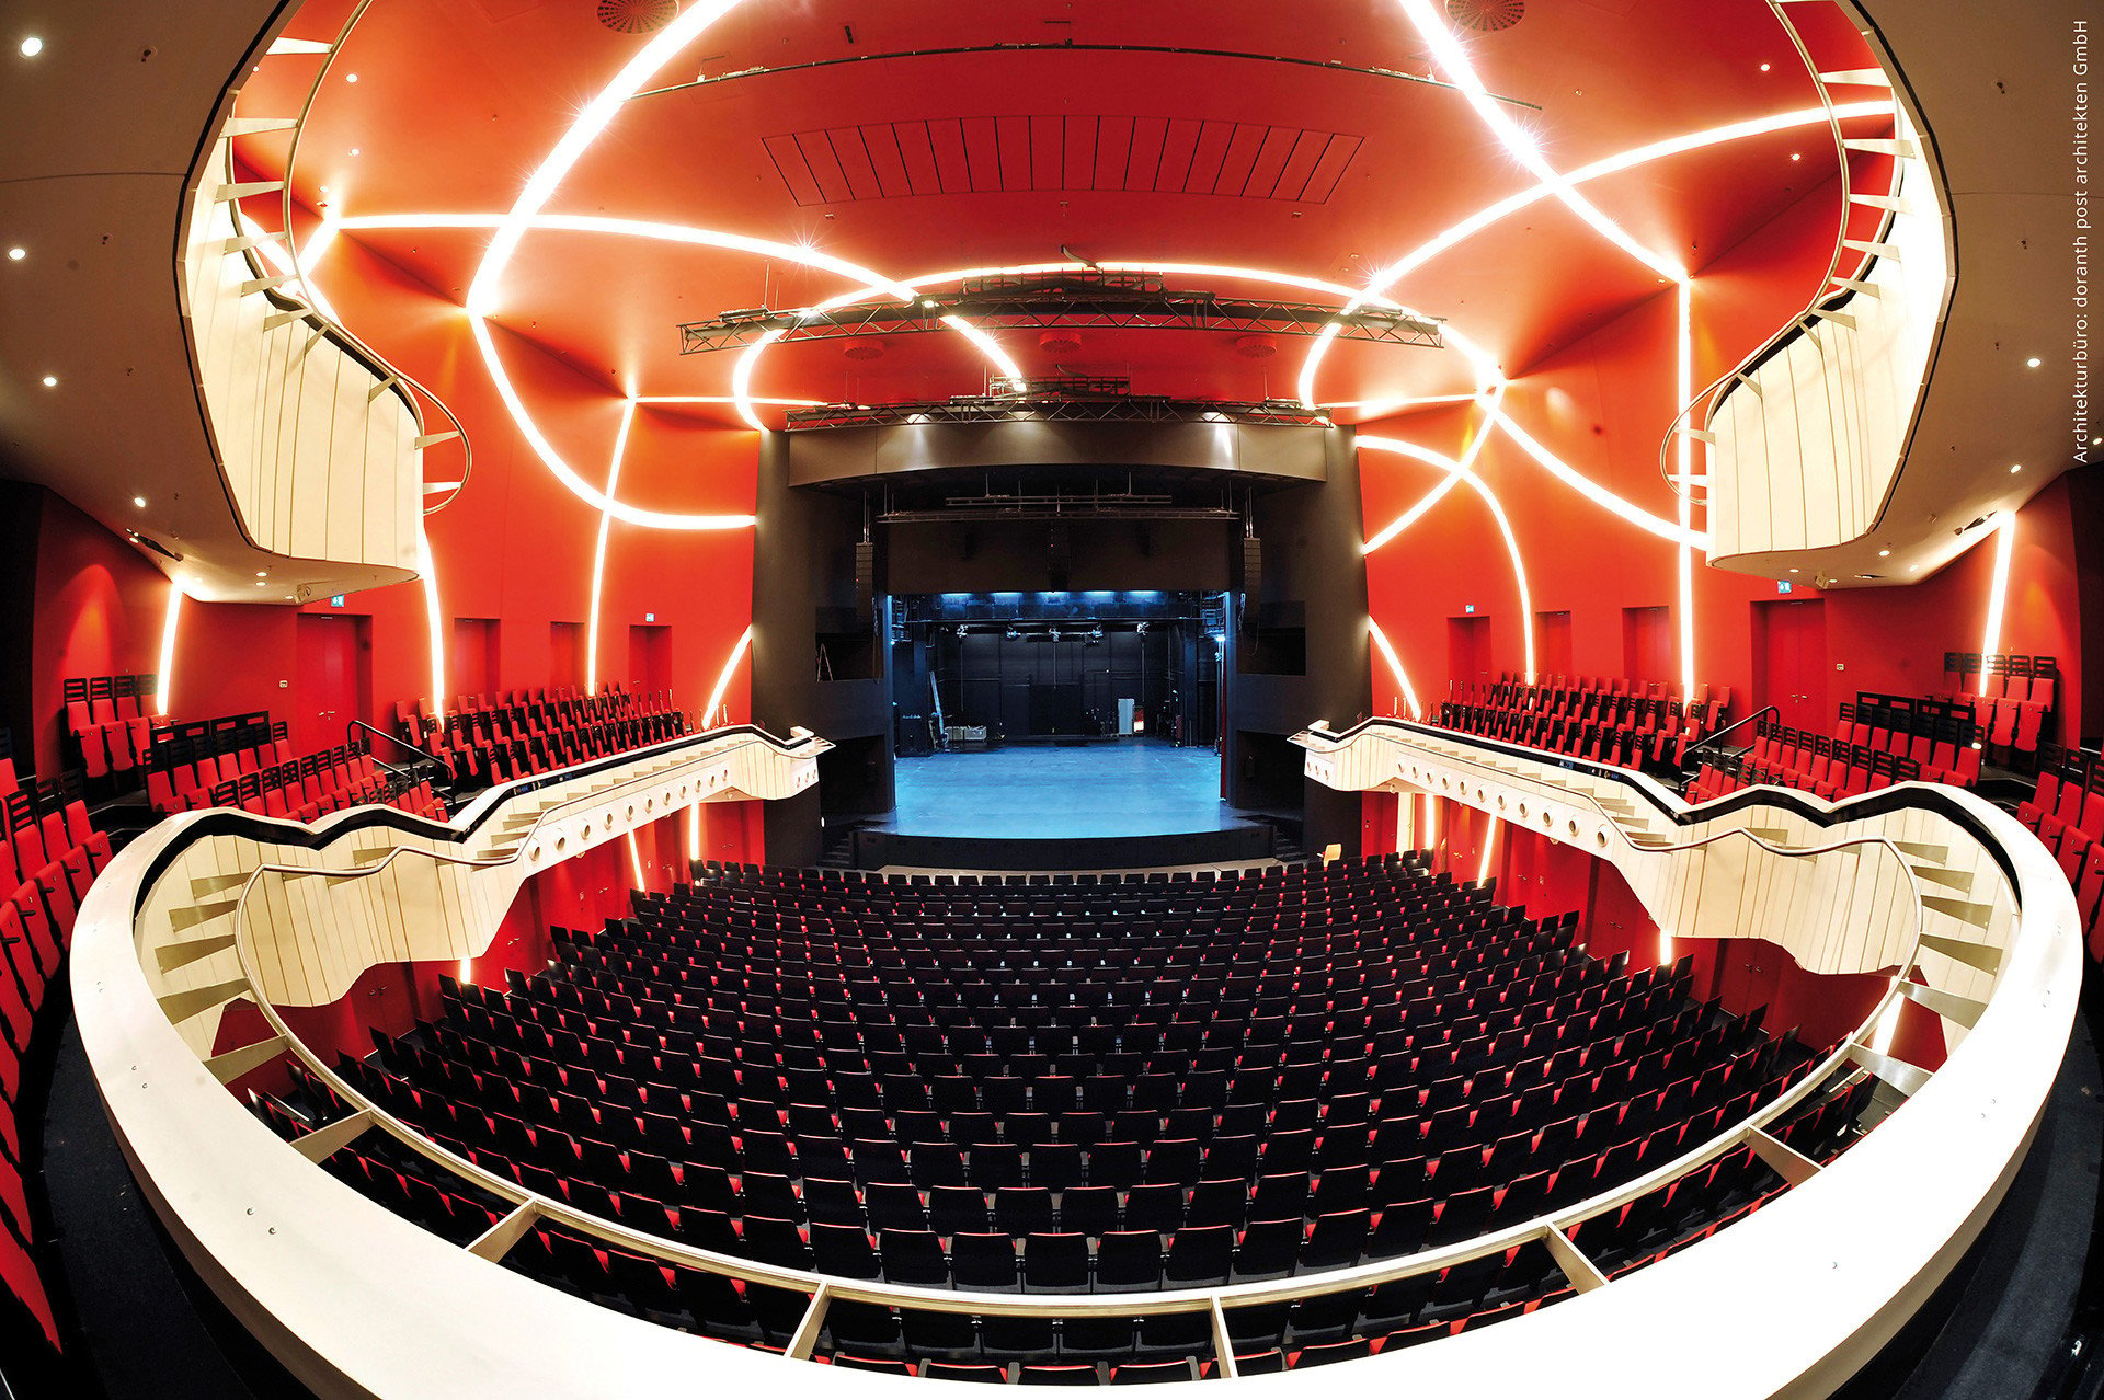
[[[360,217],[507,210],[576,109],[646,42],[608,32],[595,8],[591,0],[375,0],[307,124],[299,200]],[[313,0],[290,34],[332,38],[345,13],[345,0]],[[663,80],[1067,38],[1281,55],[1414,78],[1431,71],[1414,29],[1389,0],[1117,6],[747,0],[675,57]],[[1469,53],[1490,90],[1519,103],[1509,109],[1538,132],[1559,168],[1685,130],[1816,105],[1763,0],[1538,0],[1513,29],[1471,36]],[[297,111],[316,65],[311,57],[265,61],[242,111]],[[358,82],[349,82],[351,74]],[[911,141],[915,130],[928,130],[919,122],[940,128],[955,118],[966,118],[966,126],[945,130],[970,130],[976,143],[959,151],[955,168],[980,185],[1010,189],[800,202],[800,187],[804,200],[812,198],[804,177],[791,166],[797,183],[787,183],[768,149],[770,137],[793,141],[802,132],[810,141],[827,128],[882,124],[907,124]],[[1023,118],[1039,122],[1037,137],[1018,147],[1018,135],[1033,130]],[[1216,132],[1241,124],[1250,132],[1292,128],[1321,141],[1332,132],[1357,141],[1336,145],[1351,151],[1351,162],[1321,202],[1071,187],[1096,183],[1094,170],[1058,172],[1069,187],[1014,189],[1052,183],[1056,162],[1046,135],[1067,130],[1069,122],[1050,118],[1086,124],[1096,137],[1102,179],[1117,185],[1161,183],[1159,162],[1149,166],[1153,174],[1142,174],[1132,151],[1151,151],[1170,122],[1185,132],[1208,122],[1206,130]],[[1002,147],[993,145],[999,135],[1008,137]],[[1233,179],[1241,170],[1235,162],[1250,162],[1260,147],[1260,139],[1246,137],[1222,151],[1229,174],[1216,183],[1252,183]],[[863,170],[848,149],[846,179],[875,193],[875,168]],[[1279,149],[1265,158],[1267,179]],[[1793,153],[1801,160],[1793,162]],[[278,172],[284,137],[246,139],[242,158]],[[1656,162],[1603,179],[1589,195],[1645,246],[1700,269],[1799,200],[1814,193],[1833,200],[1833,172],[1828,135],[1803,128]],[[896,187],[896,170],[890,183]],[[1372,269],[1532,183],[1448,86],[1256,57],[1073,48],[879,57],[638,97],[587,151],[549,210],[808,240],[888,275],[1054,261],[1067,244],[1092,259],[1237,263],[1357,286]],[[465,296],[488,242],[484,231],[433,229],[356,238],[450,303]],[[1809,269],[1807,282],[1816,275]],[[326,290],[326,263],[318,280]],[[839,290],[846,284],[831,273],[749,254],[534,233],[507,271],[494,320],[608,391],[722,395],[736,355],[680,357],[677,322],[730,307],[808,305]],[[1265,294],[1225,284],[1218,290]],[[1452,320],[1509,372],[1521,372],[1660,290],[1647,269],[1555,202],[1540,202],[1433,261],[1395,296]],[[1778,307],[1778,320],[1786,313]],[[387,349],[385,326],[353,330]],[[1130,374],[1140,391],[1235,399],[1290,395],[1309,345],[1281,336],[1275,357],[1248,359],[1235,353],[1231,336],[1203,332],[1086,330],[1081,341],[1077,353],[1054,359],[1037,349],[1035,332],[1004,334],[1010,353],[1033,372],[1058,364],[1071,372]],[[1751,347],[1719,347],[1744,349]],[[983,372],[976,351],[953,334],[890,336],[873,362],[844,357],[839,343],[791,343],[770,351],[755,391],[858,402],[943,397],[978,389]],[[1378,399],[1469,385],[1466,364],[1454,351],[1340,343],[1319,397]]]

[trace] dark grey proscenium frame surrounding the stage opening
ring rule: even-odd
[[[989,423],[898,425],[768,433],[760,446],[757,528],[753,532],[753,719],[772,729],[804,725],[839,750],[835,763],[875,763],[873,803],[894,801],[890,748],[890,645],[879,643],[875,677],[818,681],[818,614],[852,610],[854,542],[863,502],[842,483],[955,467],[1027,467],[1077,475],[1117,467],[1191,467],[1222,477],[1262,477],[1252,494],[1262,540],[1258,614],[1296,614],[1307,626],[1307,675],[1239,675],[1229,639],[1227,797],[1239,801],[1241,734],[1286,738],[1313,719],[1349,725],[1372,708],[1365,631],[1363,511],[1357,439],[1351,429],[1252,427],[1233,423],[1119,425]],[[835,490],[812,490],[825,481]],[[964,530],[966,526],[957,526]],[[1088,530],[1090,521],[1073,521]],[[1130,526],[1105,526],[1130,528]],[[1231,540],[1222,540],[1229,544]],[[1235,551],[1239,574],[1239,551]],[[1018,578],[1016,589],[1041,589]],[[1096,582],[1094,586],[1113,586]],[[1237,580],[1239,586],[1239,580]],[[877,597],[888,593],[884,540],[877,540]],[[882,614],[882,608],[875,610]],[[882,616],[871,618],[882,626]],[[867,740],[867,744],[856,744]],[[861,750],[861,753],[858,753]],[[1336,843],[1359,851],[1359,797],[1302,780],[1304,847]],[[814,864],[821,853],[821,792],[766,807],[770,864]]]

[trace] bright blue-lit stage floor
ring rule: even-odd
[[[1220,755],[1157,740],[1018,744],[898,759],[898,807],[871,826],[915,837],[1161,837],[1241,826]]]

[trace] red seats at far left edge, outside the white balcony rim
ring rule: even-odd
[[[42,1057],[55,1034],[46,1005],[80,900],[109,864],[112,847],[78,799],[36,807],[34,797],[48,797],[48,788],[23,788],[6,799],[0,835],[0,1289],[57,1347],[57,1318],[32,1255],[36,1240],[15,1110],[25,1064]]]

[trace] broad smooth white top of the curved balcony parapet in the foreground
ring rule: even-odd
[[[1631,788],[1635,799],[1654,797],[1635,790],[1641,784]],[[534,807],[547,799],[534,797]],[[454,826],[509,826],[526,811],[518,795],[499,792],[463,811]],[[585,811],[604,822],[606,801],[593,795],[555,820],[583,820]],[[812,1373],[783,1371],[808,1362],[652,1326],[454,1249],[341,1186],[236,1104],[200,1064],[194,1043],[168,1022],[147,971],[164,946],[156,942],[151,914],[158,893],[170,881],[191,889],[179,862],[196,847],[252,841],[242,828],[257,818],[221,816],[231,830],[215,832],[202,816],[156,828],[90,891],[74,944],[76,1015],[109,1118],[156,1211],[236,1316],[295,1375],[324,1396],[633,1396],[644,1387],[686,1394],[745,1383],[810,1385]],[[520,830],[545,839],[553,826],[543,828],[543,816],[520,822]],[[396,814],[372,818],[339,816],[309,843],[347,845],[356,856],[375,826],[385,824],[404,830],[393,845],[406,849],[406,835],[419,826]],[[1370,1398],[1399,1387],[1408,1394],[1553,1387],[1624,1398],[1830,1392],[1866,1356],[1864,1347],[1910,1312],[1913,1291],[1940,1276],[1984,1221],[2022,1156],[2058,1064],[2079,973],[2072,898],[2058,868],[2026,851],[2018,837],[2028,841],[2009,822],[1988,824],[1984,839],[1988,847],[2016,851],[2011,887],[2022,912],[1992,1003],[1961,1053],[1833,1167],[1717,1238],[1553,1308],[1368,1362],[1229,1383],[1262,1385],[1267,1394],[1315,1394],[1321,1385],[1326,1394]],[[526,841],[515,837],[511,856]],[[497,843],[497,853],[503,845]],[[238,879],[248,885],[248,877]],[[372,879],[381,877],[368,872],[343,885]],[[305,883],[328,881],[286,881]],[[221,898],[229,889],[221,885]],[[1868,1034],[1868,1024],[1858,1034]],[[1574,1207],[1567,1215],[1582,1211]],[[1963,1219],[1950,1219],[1953,1213]],[[551,1219],[591,1228],[560,1211]],[[621,1228],[600,1232],[631,1247]],[[1363,1286],[1374,1274],[1435,1268],[1462,1253],[1452,1247],[1410,1261],[1210,1293],[928,1295],[842,1280],[837,1295],[999,1314],[1210,1310]],[[692,1263],[789,1286],[835,1286],[751,1261]],[[831,1371],[825,1383],[894,1396],[907,1385],[844,1371]]]

